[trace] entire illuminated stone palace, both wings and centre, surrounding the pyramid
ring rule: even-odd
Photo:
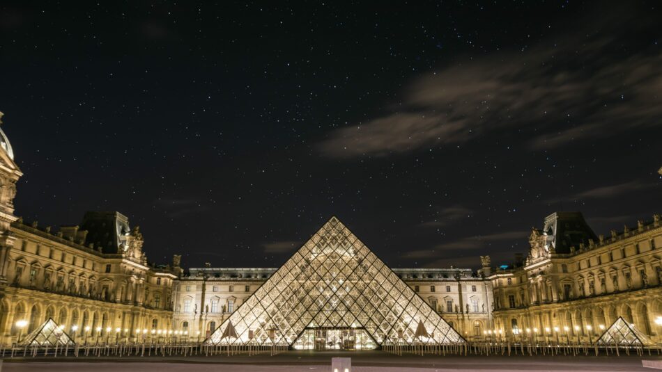
[[[139,228],[118,212],[88,212],[79,225],[56,231],[26,222],[13,205],[21,176],[0,129],[0,343],[16,342],[48,318],[76,342],[173,333],[202,341],[279,271],[210,264],[183,270],[179,256],[148,264]],[[408,286],[408,303],[438,314],[470,341],[527,332],[591,341],[619,316],[662,340],[659,215],[597,236],[581,213],[553,213],[529,242],[528,256],[497,268],[482,257],[477,272],[383,270]]]

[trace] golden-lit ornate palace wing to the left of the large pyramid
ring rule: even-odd
[[[174,266],[147,263],[138,227],[117,212],[88,212],[58,232],[14,214],[22,176],[0,129],[0,343],[48,318],[77,342],[171,330]]]

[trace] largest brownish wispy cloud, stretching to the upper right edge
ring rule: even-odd
[[[611,26],[614,17],[528,51],[419,76],[397,110],[335,129],[318,149],[339,159],[387,156],[513,130],[529,136],[530,149],[551,149],[659,125],[662,54],[634,47],[615,53],[624,31]]]

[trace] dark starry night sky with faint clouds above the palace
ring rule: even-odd
[[[338,216],[476,268],[662,212],[660,1],[0,3],[17,216],[116,210],[150,261],[277,267]]]

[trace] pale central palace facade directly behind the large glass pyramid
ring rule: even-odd
[[[206,339],[277,270],[191,268],[175,286],[175,329]],[[465,339],[482,337],[493,327],[491,281],[472,270],[396,268],[393,272]]]

